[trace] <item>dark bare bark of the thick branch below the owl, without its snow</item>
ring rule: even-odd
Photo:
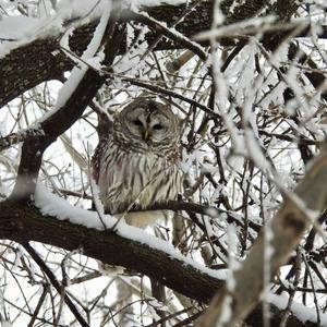
[[[185,265],[184,262],[173,258],[170,253],[155,250],[110,231],[97,231],[44,216],[33,205],[17,204],[13,201],[0,203],[0,239],[9,239],[22,244],[37,241],[68,251],[83,249],[87,256],[109,265],[140,271],[201,302],[208,302],[223,287],[223,280]],[[272,305],[271,315],[277,326],[281,311]],[[262,326],[261,306],[256,307],[247,319],[253,326]],[[314,324],[303,324],[296,316],[292,316],[286,326],[300,327],[314,326]]]

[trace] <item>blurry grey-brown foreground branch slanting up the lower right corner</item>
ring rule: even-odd
[[[271,226],[265,228],[245,262],[233,272],[232,287],[227,283],[223,291],[215,296],[198,327],[217,325],[232,327],[249,315],[261,296],[264,296],[265,246],[267,246],[265,234],[269,233],[271,238],[268,244],[270,279],[287,262],[308,227],[315,223],[317,215],[325,209],[326,183],[327,153],[323,152],[295,189],[294,194],[286,195],[286,201],[274,217]]]

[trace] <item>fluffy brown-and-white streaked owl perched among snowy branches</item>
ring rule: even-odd
[[[180,124],[169,106],[145,97],[126,106],[93,157],[105,211],[117,215],[133,205],[145,208],[175,199],[182,185],[179,158]],[[125,218],[140,227],[156,219],[149,211]]]

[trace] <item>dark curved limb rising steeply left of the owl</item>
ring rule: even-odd
[[[113,62],[122,39],[124,28],[117,24],[119,14],[120,11],[113,11],[106,27],[106,64]],[[78,84],[74,85],[75,89],[71,90],[72,94],[65,99],[65,102],[53,110],[55,112],[50,113],[47,119],[39,122],[38,130],[40,133],[25,140],[12,198],[26,201],[34,193],[45,149],[82,116],[105,81],[106,78],[95,70],[87,69]]]

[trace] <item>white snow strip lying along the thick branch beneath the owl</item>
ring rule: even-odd
[[[70,205],[65,199],[50,193],[43,185],[37,185],[35,192],[35,205],[44,215],[57,217],[59,220],[69,220],[72,223],[82,225],[96,230],[104,230],[104,225],[107,229],[112,228],[117,219],[110,215],[102,215],[102,222],[99,220],[98,214],[87,211],[85,209]],[[209,275],[217,279],[226,279],[225,271],[209,269],[193,259],[183,256],[172,244],[157,239],[144,230],[126,225],[122,219],[116,226],[116,233],[122,238],[146,244],[155,250],[165,252],[171,258],[183,262],[184,265],[192,266],[202,274]]]

